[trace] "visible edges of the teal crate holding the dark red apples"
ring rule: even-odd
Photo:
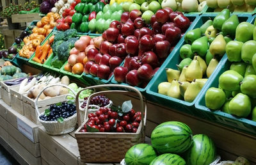
[[[191,30],[191,29],[194,28],[196,22],[198,22],[199,17],[198,17],[197,15],[186,15],[186,17],[188,17],[188,19],[189,19],[191,22],[193,21],[193,23],[191,24],[191,26],[189,26],[189,28],[188,28],[188,30],[187,30],[187,31],[189,31],[189,30]],[[184,36],[182,36],[182,38],[181,38],[180,41],[177,43],[177,45],[175,46],[175,48],[173,49],[173,51],[172,51],[172,52],[169,54],[169,56],[165,59],[164,63],[161,65],[161,67],[159,68],[159,70],[160,70],[161,68],[163,68],[163,67],[166,65],[166,63],[168,63],[168,61],[170,61],[170,58],[172,58],[173,54],[177,51],[177,49],[179,49],[179,47],[181,47],[182,40],[184,40],[183,38],[184,38]],[[156,74],[154,75],[154,77],[156,77],[156,76],[159,74],[159,70],[156,72]],[[152,79],[154,79],[154,77],[153,77]],[[150,82],[152,82],[152,79],[150,80]],[[148,85],[150,84],[150,82],[147,84],[147,86],[146,86],[145,88],[140,88],[140,87],[138,87],[138,86],[135,86],[135,88],[137,88],[140,92],[143,92],[143,94],[146,94],[146,90],[147,90]],[[113,84],[122,84],[122,85],[128,85],[128,86],[129,86],[129,84],[126,84],[126,83],[118,83],[117,81],[115,81],[115,77],[114,77],[114,76],[113,76],[113,78],[112,78],[112,80],[111,80],[111,83],[113,83]]]

